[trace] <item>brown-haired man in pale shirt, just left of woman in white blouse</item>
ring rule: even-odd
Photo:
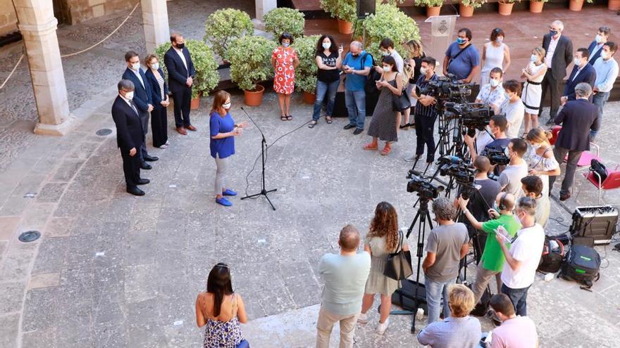
[[[523,196],[521,179],[528,175],[528,163],[523,160],[523,155],[527,150],[528,143],[526,141],[521,138],[512,138],[505,150],[510,162],[497,179],[502,191],[512,193],[516,199]]]

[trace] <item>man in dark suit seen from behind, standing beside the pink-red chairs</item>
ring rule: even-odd
[[[575,87],[575,101],[569,101],[564,105],[555,117],[555,124],[562,124],[559,131],[553,155],[558,163],[564,162],[564,157],[568,153],[566,161],[566,173],[562,181],[562,188],[559,191],[559,200],[567,200],[571,197],[571,186],[573,186],[575,169],[577,162],[584,150],[590,150],[590,130],[597,131],[600,128],[600,113],[593,103],[588,101],[592,94],[592,87],[581,82]],[[549,177],[549,192],[553,188],[553,183],[557,176]]]

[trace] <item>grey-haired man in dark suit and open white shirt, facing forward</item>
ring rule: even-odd
[[[545,49],[545,65],[547,72],[543,78],[543,94],[540,98],[538,117],[543,112],[543,102],[547,89],[551,92],[551,110],[549,112],[548,125],[553,124],[553,119],[559,109],[560,84],[566,77],[566,66],[573,60],[573,43],[571,39],[562,35],[564,24],[554,20],[549,27],[549,33],[543,37],[543,49]]]

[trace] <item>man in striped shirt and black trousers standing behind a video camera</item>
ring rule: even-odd
[[[416,89],[425,89],[430,81],[438,81],[439,77],[435,74],[435,65],[437,62],[433,57],[422,59],[420,72],[422,75],[416,82]],[[424,153],[424,144],[426,144],[426,163],[430,164],[435,161],[435,138],[433,138],[433,130],[435,129],[435,121],[437,120],[437,99],[433,96],[422,94],[418,96],[415,89],[411,91],[411,96],[418,100],[414,112],[414,122],[416,124],[416,155],[406,158],[407,162],[418,160]]]

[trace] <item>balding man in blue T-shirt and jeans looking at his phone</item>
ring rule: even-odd
[[[345,79],[345,103],[349,113],[349,124],[345,129],[354,128],[353,134],[361,134],[364,131],[366,120],[366,79],[368,72],[373,66],[373,56],[364,51],[359,41],[352,41],[349,53],[342,60],[342,71],[347,74]]]

